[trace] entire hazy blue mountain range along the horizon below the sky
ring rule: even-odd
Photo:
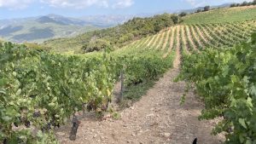
[[[212,8],[229,7],[231,3],[225,3]],[[166,10],[159,13],[193,13],[197,9]],[[38,17],[20,18],[12,20],[0,20],[0,38],[16,43],[44,42],[57,37],[73,37],[84,32],[96,29],[117,26],[133,17],[148,17],[154,14],[130,14],[130,15],[89,15],[79,18],[70,18],[57,14],[48,14]]]

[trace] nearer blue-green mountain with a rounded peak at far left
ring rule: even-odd
[[[87,24],[83,20],[56,14],[0,20],[0,37],[15,43],[42,43],[51,38],[74,37],[97,29],[97,26]]]

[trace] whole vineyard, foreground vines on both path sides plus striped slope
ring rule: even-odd
[[[77,112],[108,111],[120,75],[129,89],[175,67],[177,80],[187,82],[184,92],[195,89],[205,104],[200,118],[222,118],[215,135],[224,132],[227,144],[255,143],[256,20],[195,21],[185,18],[121,49],[85,55],[0,42],[0,141],[58,143],[55,128],[71,118],[76,124]],[[182,60],[180,70],[175,60]]]

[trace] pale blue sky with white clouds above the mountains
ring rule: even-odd
[[[244,0],[0,0],[0,19],[61,14],[144,14]]]

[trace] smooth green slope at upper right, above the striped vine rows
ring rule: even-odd
[[[207,12],[189,14],[183,17],[183,24],[207,24],[253,20],[256,18],[256,6],[213,9]]]

